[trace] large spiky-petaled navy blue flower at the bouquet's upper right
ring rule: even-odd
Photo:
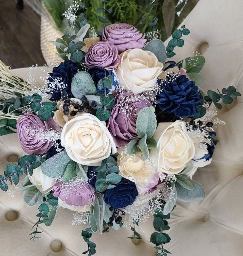
[[[197,104],[201,103],[202,98],[195,82],[186,76],[178,76],[176,79],[167,76],[166,84],[161,89],[163,91],[156,96],[159,109],[180,117],[197,115]]]

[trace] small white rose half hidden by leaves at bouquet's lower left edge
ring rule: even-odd
[[[55,179],[43,174],[41,166],[33,169],[32,176],[30,176],[28,172],[28,177],[30,182],[34,184],[35,187],[37,187],[37,189],[40,190],[40,192],[43,194],[50,192],[55,184]]]

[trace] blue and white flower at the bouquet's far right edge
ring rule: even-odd
[[[195,156],[190,162],[196,167],[204,167],[211,163],[214,152],[214,144],[201,142],[195,147]]]

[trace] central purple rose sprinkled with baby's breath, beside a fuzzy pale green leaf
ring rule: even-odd
[[[137,115],[142,108],[151,106],[151,103],[147,100],[135,101],[128,92],[117,95],[115,103],[107,128],[115,145],[120,148],[130,140],[139,138],[136,132]],[[125,109],[128,109],[128,112]]]

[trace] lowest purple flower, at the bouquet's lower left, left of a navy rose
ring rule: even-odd
[[[94,190],[87,183],[72,186],[69,182],[67,186],[67,183],[59,181],[52,190],[55,197],[59,197],[69,205],[85,206],[91,204],[95,199]]]

